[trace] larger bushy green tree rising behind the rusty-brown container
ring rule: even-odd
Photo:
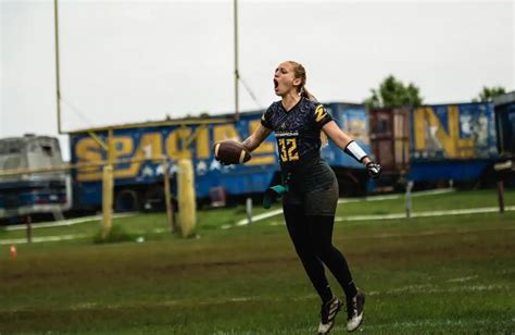
[[[418,107],[423,98],[419,89],[413,83],[407,86],[393,75],[386,77],[379,85],[379,89],[370,89],[372,96],[366,98],[364,103],[370,108],[392,108],[402,106]]]

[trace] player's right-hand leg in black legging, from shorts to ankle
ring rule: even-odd
[[[343,288],[347,298],[351,299],[357,294],[357,289],[346,257],[332,245],[335,216],[307,215],[306,219],[310,226],[309,235],[313,239],[317,258],[327,265]]]

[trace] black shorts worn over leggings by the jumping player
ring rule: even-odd
[[[282,197],[282,206],[303,206],[305,215],[335,215],[338,182],[324,160],[315,159],[305,169],[284,172],[282,176],[289,188]]]

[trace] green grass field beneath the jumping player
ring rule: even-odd
[[[505,201],[515,206],[514,190]],[[494,206],[494,190],[413,198],[415,212]],[[337,215],[403,211],[401,197],[343,203]],[[188,239],[148,214],[114,223],[145,243],[93,245],[99,223],[87,222],[34,229],[85,237],[21,244],[14,259],[0,245],[0,333],[314,334],[319,300],[281,216],[221,228],[244,216],[199,212]],[[0,243],[24,234],[0,231]],[[363,333],[515,334],[514,211],[339,221],[335,245],[367,293]]]

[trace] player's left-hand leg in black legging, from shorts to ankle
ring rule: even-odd
[[[324,272],[324,264],[316,257],[313,237],[310,236],[310,228],[304,207],[301,204],[282,206],[286,226],[296,248],[297,255],[304,265],[304,270],[321,296],[322,302],[327,302],[332,298],[329,283]]]

